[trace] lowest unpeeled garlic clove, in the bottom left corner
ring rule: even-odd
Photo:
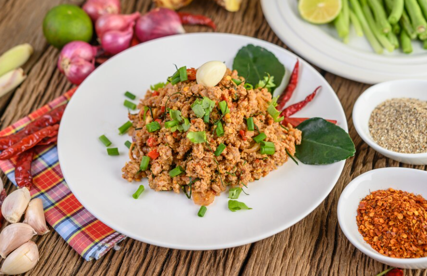
[[[4,260],[0,274],[15,275],[33,269],[39,261],[39,249],[33,241],[19,246]]]

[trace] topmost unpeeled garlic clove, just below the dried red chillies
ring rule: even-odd
[[[11,192],[1,205],[1,214],[6,221],[15,223],[21,220],[22,215],[30,202],[30,191],[26,187]]]

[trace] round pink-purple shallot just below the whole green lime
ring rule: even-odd
[[[73,84],[80,84],[95,70],[97,47],[83,41],[73,41],[64,46],[58,59],[58,68]]]

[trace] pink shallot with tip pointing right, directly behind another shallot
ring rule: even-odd
[[[96,20],[95,31],[99,38],[109,31],[124,31],[140,16],[139,12],[132,14],[104,14]]]

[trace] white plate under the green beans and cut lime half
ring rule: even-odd
[[[427,51],[413,42],[414,52],[377,55],[365,37],[351,28],[350,42],[338,38],[333,25],[313,25],[298,12],[297,0],[261,0],[262,11],[277,36],[293,51],[326,71],[365,83],[427,79]]]

